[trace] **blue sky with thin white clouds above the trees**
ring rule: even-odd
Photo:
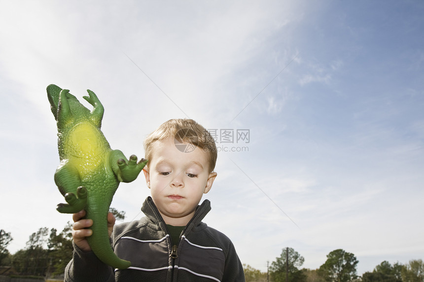
[[[204,221],[266,271],[293,248],[317,269],[336,249],[357,273],[424,259],[424,2],[3,1],[0,228],[11,253],[71,215],[53,175],[46,87],[105,107],[112,149],[191,118],[213,132]],[[139,219],[144,177],[112,207]]]

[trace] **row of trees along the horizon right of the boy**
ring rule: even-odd
[[[246,282],[424,282],[422,259],[393,265],[383,261],[372,272],[365,272],[362,276],[356,274],[359,262],[356,256],[342,249],[327,254],[327,260],[315,270],[301,269],[304,261],[297,251],[285,248],[281,256],[271,263],[268,273],[243,265]]]

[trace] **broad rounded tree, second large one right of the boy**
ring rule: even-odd
[[[328,282],[348,282],[356,279],[358,260],[353,253],[342,249],[331,251],[319,267],[319,275]]]

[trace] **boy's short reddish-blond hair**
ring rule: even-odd
[[[144,139],[145,158],[151,159],[153,144],[174,138],[177,143],[189,143],[209,154],[209,172],[215,168],[217,150],[211,134],[202,125],[191,119],[173,119],[160,125]],[[194,149],[193,149],[194,150]],[[147,166],[149,163],[147,162]]]

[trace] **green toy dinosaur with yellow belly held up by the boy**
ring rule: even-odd
[[[61,213],[77,213],[83,209],[93,219],[93,235],[88,243],[104,263],[118,269],[131,262],[117,257],[111,249],[107,232],[107,213],[119,182],[137,178],[147,163],[131,156],[127,160],[119,150],[110,149],[100,131],[104,108],[96,94],[87,90],[83,98],[93,105],[90,112],[78,99],[56,85],[47,87],[52,113],[57,121],[58,148],[61,163],[54,179],[67,204],[59,204]]]

